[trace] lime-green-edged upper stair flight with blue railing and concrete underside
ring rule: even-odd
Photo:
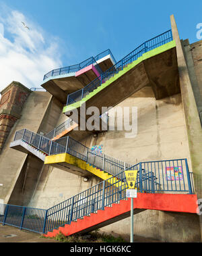
[[[75,108],[77,108],[79,111],[79,107],[84,102],[86,102],[87,108],[90,105],[94,105],[99,109],[101,105],[106,107],[114,107],[114,105],[129,97],[129,95],[135,93],[135,91],[138,91],[143,86],[147,86],[149,84],[151,84],[152,88],[154,89],[156,99],[166,97],[165,91],[167,91],[168,95],[176,93],[176,91],[178,91],[177,84],[174,82],[176,87],[174,86],[171,88],[171,78],[169,78],[166,82],[164,81],[163,84],[159,84],[159,86],[161,85],[163,87],[162,91],[158,92],[160,88],[158,88],[157,84],[156,86],[153,86],[155,84],[155,78],[160,80],[160,76],[162,76],[160,72],[167,72],[167,74],[170,74],[170,72],[176,72],[176,57],[174,57],[175,51],[170,51],[169,54],[164,54],[164,52],[168,52],[174,47],[175,43],[172,41],[171,30],[156,36],[154,39],[146,41],[121,59],[121,61],[117,62],[114,66],[106,70],[106,72],[103,72],[98,78],[90,82],[90,84],[84,88],[81,88],[79,91],[69,94],[67,98],[67,106],[64,107],[63,113],[69,116],[69,111]],[[156,60],[154,57],[156,57]],[[147,59],[152,60],[147,61]],[[153,61],[153,63],[149,63],[150,61]],[[168,66],[166,65],[167,62],[169,62]],[[151,70],[147,68],[148,65],[152,67],[155,65],[160,67],[157,68],[156,74],[153,74],[155,73],[154,68],[152,73]],[[119,78],[119,80],[121,80],[121,77],[123,77],[126,73],[128,73],[127,79],[124,80],[123,83],[120,81],[116,82],[116,84],[114,84],[114,90],[112,90],[112,86],[108,88],[110,84]],[[126,82],[127,87],[125,86]],[[124,88],[127,88],[127,91],[124,91]],[[103,94],[101,93],[102,91]],[[110,94],[107,93],[108,91],[110,91]],[[96,95],[98,95],[98,97],[96,97]],[[91,102],[88,105],[88,101],[90,101],[90,99]],[[102,104],[100,103],[99,99],[102,101]]]

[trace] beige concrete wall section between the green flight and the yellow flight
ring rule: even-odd
[[[137,136],[125,138],[126,130],[108,131],[87,138],[88,147],[103,145],[103,152],[127,163],[166,159],[189,159],[184,114],[180,94],[156,101],[147,86],[117,107],[137,107]],[[112,118],[112,111],[109,111]],[[130,114],[130,122],[131,122]],[[116,121],[116,120],[115,120]],[[115,122],[116,123],[116,122]]]

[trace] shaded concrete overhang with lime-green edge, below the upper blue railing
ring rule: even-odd
[[[80,120],[81,107],[85,103],[86,109],[98,107],[102,114],[102,107],[114,107],[145,86],[152,87],[156,99],[180,93],[174,41],[144,53],[81,101],[64,107],[63,113],[70,116],[72,111],[77,110]],[[90,116],[82,118],[88,120]]]

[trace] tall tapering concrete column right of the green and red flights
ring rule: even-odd
[[[195,102],[195,96],[193,94],[193,87],[191,84],[191,78],[189,77],[189,71],[187,63],[184,58],[182,44],[178,34],[178,28],[174,20],[174,16],[170,16],[172,26],[172,36],[176,42],[176,55],[178,60],[178,72],[180,77],[180,90],[182,96],[182,105],[184,109],[184,118],[187,128],[187,137],[189,142],[189,151],[191,156],[191,165],[194,174],[195,193],[197,193],[198,199],[202,199],[202,129],[199,119],[199,113],[197,111],[197,105]],[[185,202],[186,203],[186,202]],[[197,204],[196,204],[197,207]],[[202,215],[199,215],[199,222],[201,228],[202,239]]]

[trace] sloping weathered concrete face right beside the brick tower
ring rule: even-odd
[[[22,117],[15,123],[7,138],[5,147],[0,155],[0,180],[1,184],[3,184],[0,187],[0,198],[4,199],[5,203],[9,201],[15,182],[18,180],[18,176],[28,157],[28,155],[20,151],[9,148],[15,131],[28,128],[29,130],[33,130],[33,132],[38,132],[51,97],[49,93],[31,93],[22,110]]]

